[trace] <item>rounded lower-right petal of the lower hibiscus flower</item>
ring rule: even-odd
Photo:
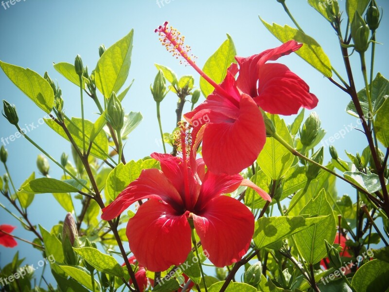
[[[217,197],[193,219],[204,253],[216,267],[237,262],[246,254],[254,233],[254,216],[240,201]]]

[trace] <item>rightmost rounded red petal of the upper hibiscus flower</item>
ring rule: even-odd
[[[295,114],[301,107],[313,109],[318,98],[309,93],[309,86],[283,64],[271,63],[259,71],[257,104],[275,114]]]

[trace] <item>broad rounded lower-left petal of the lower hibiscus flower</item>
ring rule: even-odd
[[[187,215],[155,199],[139,207],[128,221],[126,235],[139,264],[154,272],[182,264],[192,248]]]

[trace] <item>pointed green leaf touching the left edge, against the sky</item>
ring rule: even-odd
[[[49,82],[38,73],[19,66],[0,61],[0,67],[5,75],[26,94],[35,104],[50,113],[54,104],[54,91]]]

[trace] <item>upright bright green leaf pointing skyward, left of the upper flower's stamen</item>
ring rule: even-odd
[[[95,69],[97,89],[109,98],[112,91],[119,92],[127,79],[130,65],[134,30],[117,41],[100,57]]]

